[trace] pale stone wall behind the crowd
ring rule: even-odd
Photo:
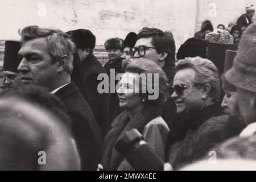
[[[96,35],[98,56],[105,61],[102,45],[108,38],[156,27],[172,31],[178,49],[200,30],[203,20],[228,26],[247,3],[256,6],[256,0],[0,0],[0,67],[3,40],[19,40],[18,29],[27,25],[87,28]]]

